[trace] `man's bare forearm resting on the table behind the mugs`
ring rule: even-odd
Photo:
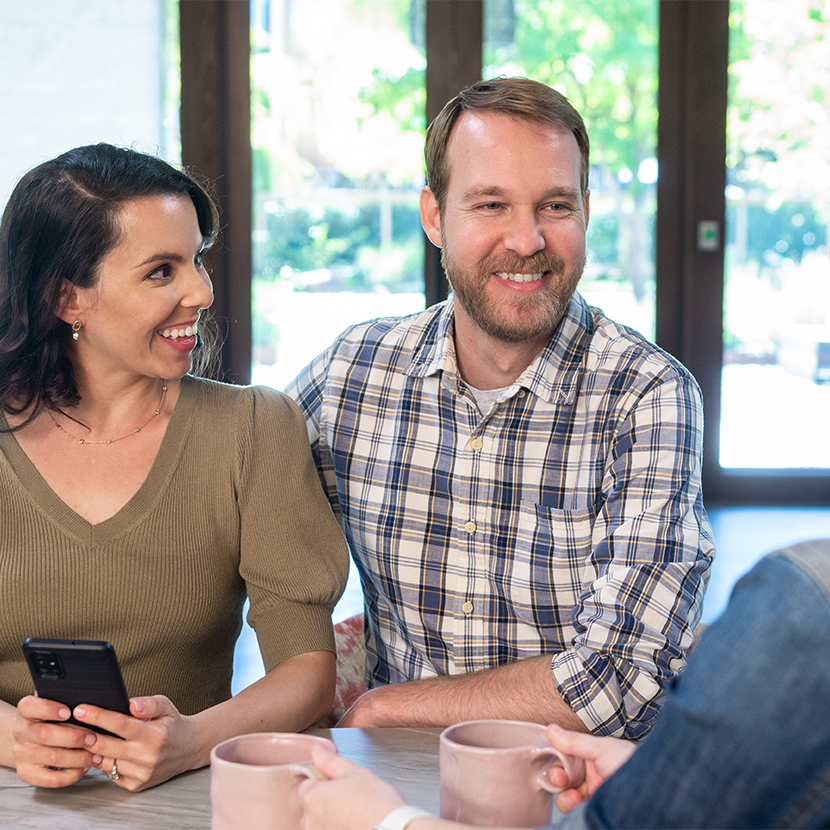
[[[379,686],[361,695],[338,726],[448,726],[503,718],[586,732],[556,691],[550,664],[550,655],[542,654],[471,674]]]

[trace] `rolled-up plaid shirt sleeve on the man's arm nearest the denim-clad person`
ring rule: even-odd
[[[612,442],[576,636],[552,660],[559,693],[596,734],[644,736],[684,664],[714,555],[702,437],[697,385],[673,374],[631,405]]]

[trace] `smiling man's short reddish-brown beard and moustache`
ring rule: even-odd
[[[441,265],[444,266],[453,294],[473,322],[496,340],[519,343],[553,334],[582,277],[585,258],[567,271],[565,263],[550,254],[534,254],[526,259],[505,256],[485,259],[473,273],[462,273],[447,248],[442,248]],[[539,274],[548,271],[550,275],[544,277],[548,284],[541,294],[516,296],[496,303],[487,293],[487,285],[494,272]],[[513,309],[513,314],[505,313],[508,304]],[[500,305],[503,307],[500,308]]]

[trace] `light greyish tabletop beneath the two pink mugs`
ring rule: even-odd
[[[312,729],[341,755],[397,787],[410,804],[437,815],[440,729]],[[72,787],[24,784],[0,767],[0,827],[61,830],[209,830],[210,770],[185,773],[143,793],[129,793],[92,770]]]

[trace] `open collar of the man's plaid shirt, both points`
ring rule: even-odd
[[[425,328],[406,374],[429,377],[443,373],[444,382],[457,389],[461,378],[452,336],[455,318],[453,298],[439,303],[434,309],[436,314]],[[571,403],[576,395],[585,349],[594,327],[593,310],[575,292],[553,337],[519,375],[512,391],[515,393],[524,388],[550,403]]]

